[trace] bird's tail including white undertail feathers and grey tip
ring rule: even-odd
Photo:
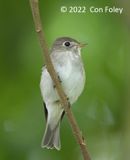
[[[60,121],[64,110],[59,102],[47,106],[47,123],[42,147],[60,150]]]

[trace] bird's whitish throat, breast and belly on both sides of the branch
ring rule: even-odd
[[[80,96],[85,84],[85,72],[80,54],[72,54],[72,52],[60,53],[59,57],[53,58],[52,61],[62,81],[63,89],[72,104]],[[40,86],[45,101],[58,99],[57,92],[46,69],[43,69]]]

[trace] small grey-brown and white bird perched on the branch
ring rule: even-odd
[[[86,44],[73,38],[59,37],[50,50],[52,64],[71,105],[77,101],[85,86],[86,76],[81,57],[81,48],[84,46]],[[46,118],[41,147],[60,150],[60,123],[65,111],[46,66],[42,68],[40,90]]]

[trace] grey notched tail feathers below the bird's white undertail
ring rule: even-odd
[[[48,149],[56,148],[57,150],[60,150],[60,122],[54,129],[51,129],[50,125],[47,123],[45,134],[42,140],[42,147],[46,147]]]

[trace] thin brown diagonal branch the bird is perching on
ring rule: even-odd
[[[67,96],[65,95],[64,90],[59,82],[59,78],[54,70],[54,66],[52,64],[52,61],[51,61],[51,58],[49,55],[49,50],[47,47],[47,43],[45,41],[45,36],[44,36],[43,29],[42,29],[42,24],[41,24],[41,18],[40,18],[40,12],[39,12],[39,0],[30,0],[30,5],[31,5],[31,9],[32,9],[35,29],[36,29],[36,32],[37,32],[37,35],[39,38],[42,52],[44,53],[43,55],[45,58],[47,70],[50,73],[52,80],[54,81],[57,93],[60,97],[60,102],[64,107],[64,110],[65,110],[66,115],[68,117],[69,123],[72,127],[74,136],[75,136],[78,144],[80,145],[84,160],[90,160],[90,156],[87,151],[87,147],[86,147],[84,138],[83,138],[81,131],[77,125],[75,117],[74,117],[72,111],[70,110],[70,104],[68,103]]]

